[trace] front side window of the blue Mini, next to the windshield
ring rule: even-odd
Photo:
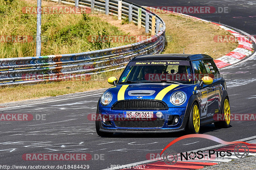
[[[192,61],[196,83],[199,83],[200,80],[202,80],[202,77],[204,76],[204,74],[208,74],[204,64],[205,64],[205,61],[203,60]]]

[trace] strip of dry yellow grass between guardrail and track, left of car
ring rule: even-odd
[[[0,88],[0,103],[37,99],[48,96],[58,96],[111,87],[111,85],[108,84],[108,78],[113,75],[119,77],[121,73],[122,71],[112,71],[92,75],[92,79],[90,81],[58,81],[35,85],[17,85]]]

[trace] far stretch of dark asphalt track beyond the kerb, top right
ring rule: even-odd
[[[198,18],[203,18],[226,24],[237,29],[243,30],[251,35],[256,35],[256,1],[247,0],[130,0],[135,4],[144,6],[213,6],[228,7],[228,13],[212,13],[212,14],[188,14]],[[221,11],[221,10],[220,10]],[[168,28],[167,28],[168,29]]]

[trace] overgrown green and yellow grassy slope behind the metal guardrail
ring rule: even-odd
[[[0,0],[0,35],[36,36],[36,14],[22,8],[36,6],[36,1]],[[58,6],[44,2],[42,6]],[[60,5],[59,5],[60,6]],[[61,5],[67,6],[67,5]],[[79,53],[129,43],[92,43],[89,35],[127,35],[99,17],[82,14],[42,14],[42,55]],[[35,56],[36,41],[0,43],[0,58]]]

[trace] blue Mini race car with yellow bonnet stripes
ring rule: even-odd
[[[205,54],[157,54],[133,58],[100,97],[99,136],[188,131],[230,125],[226,82]],[[221,118],[216,118],[216,115]]]

